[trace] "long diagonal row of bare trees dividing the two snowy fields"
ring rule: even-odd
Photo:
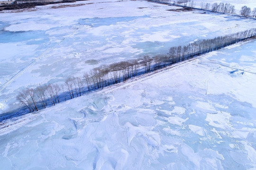
[[[38,85],[36,88],[27,88],[17,95],[18,101],[29,111],[37,111],[56,103],[89,93],[105,86],[118,84],[131,77],[148,73],[177,62],[199,56],[210,51],[219,50],[236,42],[256,37],[256,28],[218,36],[213,39],[203,39],[184,46],[175,46],[165,55],[148,56],[139,59],[120,61],[110,65],[93,68],[83,76],[66,78],[64,84]]]

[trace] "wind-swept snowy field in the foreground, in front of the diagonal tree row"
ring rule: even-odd
[[[255,170],[255,85],[256,41],[233,45],[6,122],[0,165]]]

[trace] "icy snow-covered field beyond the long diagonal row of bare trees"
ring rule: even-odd
[[[15,96],[26,87],[63,82],[102,64],[167,53],[172,46],[256,26],[238,17],[167,11],[176,7],[144,0],[64,5],[81,4],[0,13],[0,112],[19,107]]]

